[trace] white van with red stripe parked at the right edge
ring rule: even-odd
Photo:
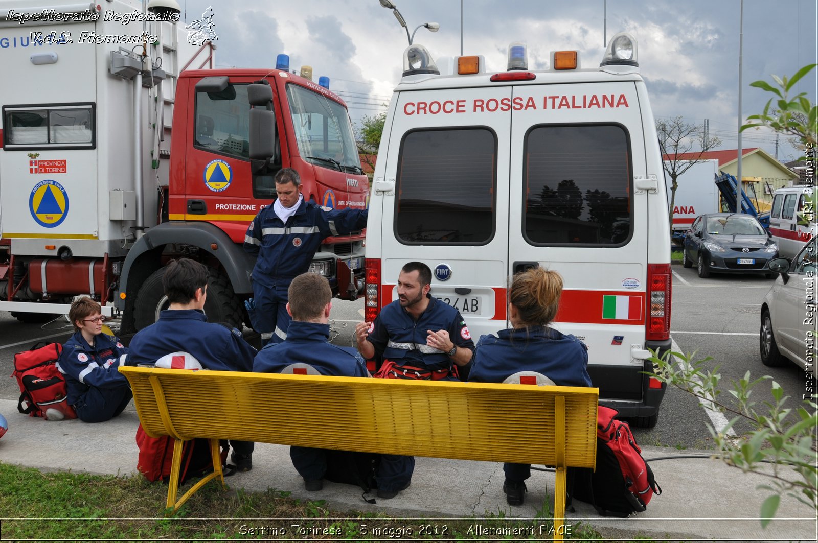
[[[810,209],[812,204],[807,200],[813,191],[814,186],[790,186],[773,195],[770,233],[778,244],[778,254],[784,258],[795,258],[816,236],[816,210]]]

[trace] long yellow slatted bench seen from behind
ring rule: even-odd
[[[224,477],[218,440],[556,467],[562,539],[567,467],[596,464],[597,388],[119,368],[142,428],[176,440],[168,507]],[[213,473],[176,500],[182,442],[210,440]]]

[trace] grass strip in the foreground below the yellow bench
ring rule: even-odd
[[[43,473],[0,463],[0,488],[2,541],[549,541],[553,531],[547,498],[533,519],[506,518],[502,511],[484,518],[398,519],[333,511],[324,500],[296,500],[283,491],[222,491],[211,482],[164,518],[167,487],[141,477]],[[611,541],[582,523],[568,526],[565,535]]]

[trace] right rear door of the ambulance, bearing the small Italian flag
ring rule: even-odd
[[[511,114],[508,274],[563,276],[555,328],[588,346],[600,397],[639,402],[648,195],[633,81],[519,85]],[[652,172],[657,173],[657,172]]]

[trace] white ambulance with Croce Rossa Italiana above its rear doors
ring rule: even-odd
[[[442,75],[408,47],[373,179],[366,320],[417,260],[477,339],[508,326],[510,277],[549,267],[564,277],[554,325],[587,343],[602,401],[654,426],[665,388],[642,372],[671,343],[670,228],[636,52],[617,34],[599,68],[562,51],[534,71],[515,43],[506,71],[461,56]]]

